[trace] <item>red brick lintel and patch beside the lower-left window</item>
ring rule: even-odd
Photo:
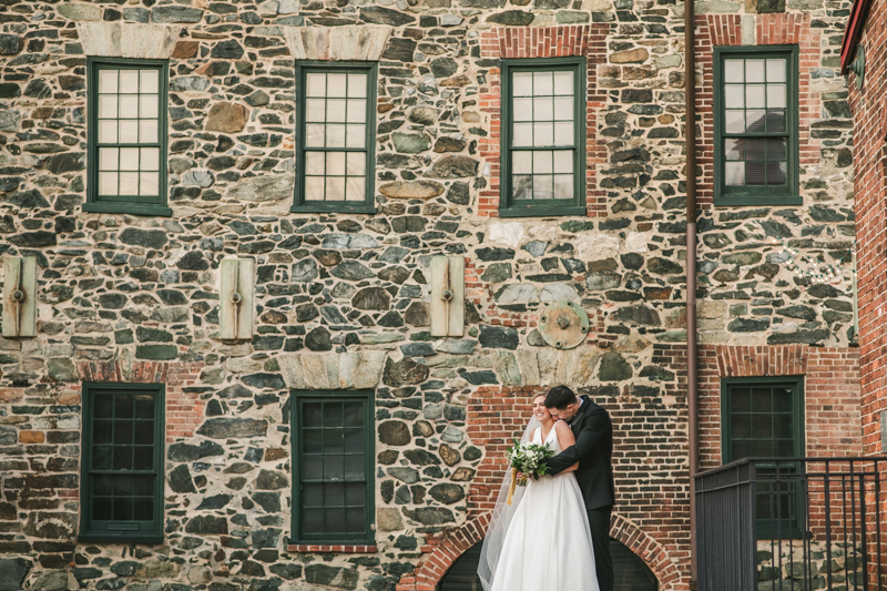
[[[187,391],[200,378],[203,364],[136,361],[130,378],[115,361],[82,361],[77,364],[83,381],[126,381],[130,384],[166,385],[166,441],[191,437],[203,420],[204,403],[197,394]]]

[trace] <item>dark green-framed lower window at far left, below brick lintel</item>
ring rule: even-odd
[[[164,394],[83,384],[81,541],[163,541]]]

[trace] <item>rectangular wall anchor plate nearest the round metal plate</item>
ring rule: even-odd
[[[460,337],[465,330],[465,258],[431,257],[431,336]]]

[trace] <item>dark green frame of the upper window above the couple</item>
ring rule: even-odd
[[[500,217],[539,217],[588,215],[585,207],[585,118],[588,112],[588,61],[584,57],[569,58],[533,58],[506,59],[501,67],[500,96],[500,143],[499,143],[499,216]],[[514,108],[511,78],[514,72],[532,72],[537,70],[570,70],[575,74],[573,88],[573,133],[575,143],[573,154],[573,198],[571,200],[521,200],[512,198],[511,128],[514,123]],[[536,146],[528,147],[532,150]],[[565,146],[539,146],[539,150],[567,150]],[[530,201],[531,203],[523,203]]]

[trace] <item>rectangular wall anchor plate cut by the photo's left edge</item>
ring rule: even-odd
[[[3,261],[3,336],[37,336],[37,258]]]

